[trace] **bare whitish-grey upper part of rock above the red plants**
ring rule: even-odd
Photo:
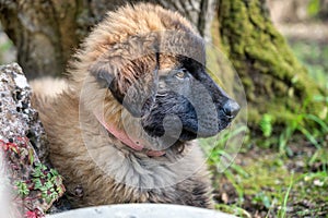
[[[31,107],[32,90],[19,64],[0,68],[0,140],[27,136],[39,160],[47,162],[45,130]]]

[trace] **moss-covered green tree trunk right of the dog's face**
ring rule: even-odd
[[[288,123],[303,109],[327,117],[327,106],[314,101],[327,93],[273,27],[265,0],[219,0],[218,15],[221,44],[246,90],[250,124],[259,123],[263,113]]]

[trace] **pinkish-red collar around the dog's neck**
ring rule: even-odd
[[[165,150],[150,150],[144,148],[144,146],[138,142],[138,141],[132,141],[127,133],[122,130],[118,130],[115,125],[110,125],[108,123],[105,122],[104,117],[101,117],[99,113],[94,112],[94,116],[96,117],[96,119],[98,120],[98,122],[112,134],[114,135],[116,138],[118,138],[121,143],[124,143],[125,145],[129,146],[130,148],[132,148],[133,150],[137,152],[142,152],[144,150],[145,154],[150,157],[161,157],[163,155],[165,155]]]

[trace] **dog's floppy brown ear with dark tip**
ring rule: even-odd
[[[154,45],[142,39],[116,45],[114,51],[90,68],[90,73],[102,86],[108,87],[133,117],[144,113],[157,90],[159,53]],[[149,44],[144,46],[144,43]]]

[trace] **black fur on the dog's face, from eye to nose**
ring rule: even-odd
[[[172,133],[179,131],[180,141],[209,137],[226,128],[239,107],[206,73],[204,66],[185,57],[180,65],[160,76],[159,90],[150,111],[143,112],[142,125],[151,136],[164,135],[164,118]],[[174,119],[174,117],[176,119]],[[169,131],[169,130],[167,130]]]

